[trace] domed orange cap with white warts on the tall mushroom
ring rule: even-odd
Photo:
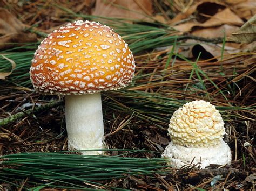
[[[53,31],[35,52],[33,87],[50,94],[91,94],[127,86],[132,52],[110,27],[78,20]]]

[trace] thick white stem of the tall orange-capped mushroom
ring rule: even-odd
[[[66,95],[66,129],[69,150],[104,148],[104,126],[100,93]],[[102,154],[87,151],[82,154]]]

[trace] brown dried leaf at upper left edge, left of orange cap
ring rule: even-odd
[[[0,8],[0,49],[14,46],[12,43],[37,41],[36,34],[23,32],[25,25],[8,10]]]

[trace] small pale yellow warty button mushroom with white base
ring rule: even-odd
[[[175,168],[231,163],[230,147],[223,140],[224,122],[211,103],[199,100],[184,104],[171,117],[168,131],[172,141],[162,155],[170,158]]]

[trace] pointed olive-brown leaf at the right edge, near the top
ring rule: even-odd
[[[256,15],[249,19],[242,27],[231,34],[228,40],[237,43],[252,43],[256,40]]]

